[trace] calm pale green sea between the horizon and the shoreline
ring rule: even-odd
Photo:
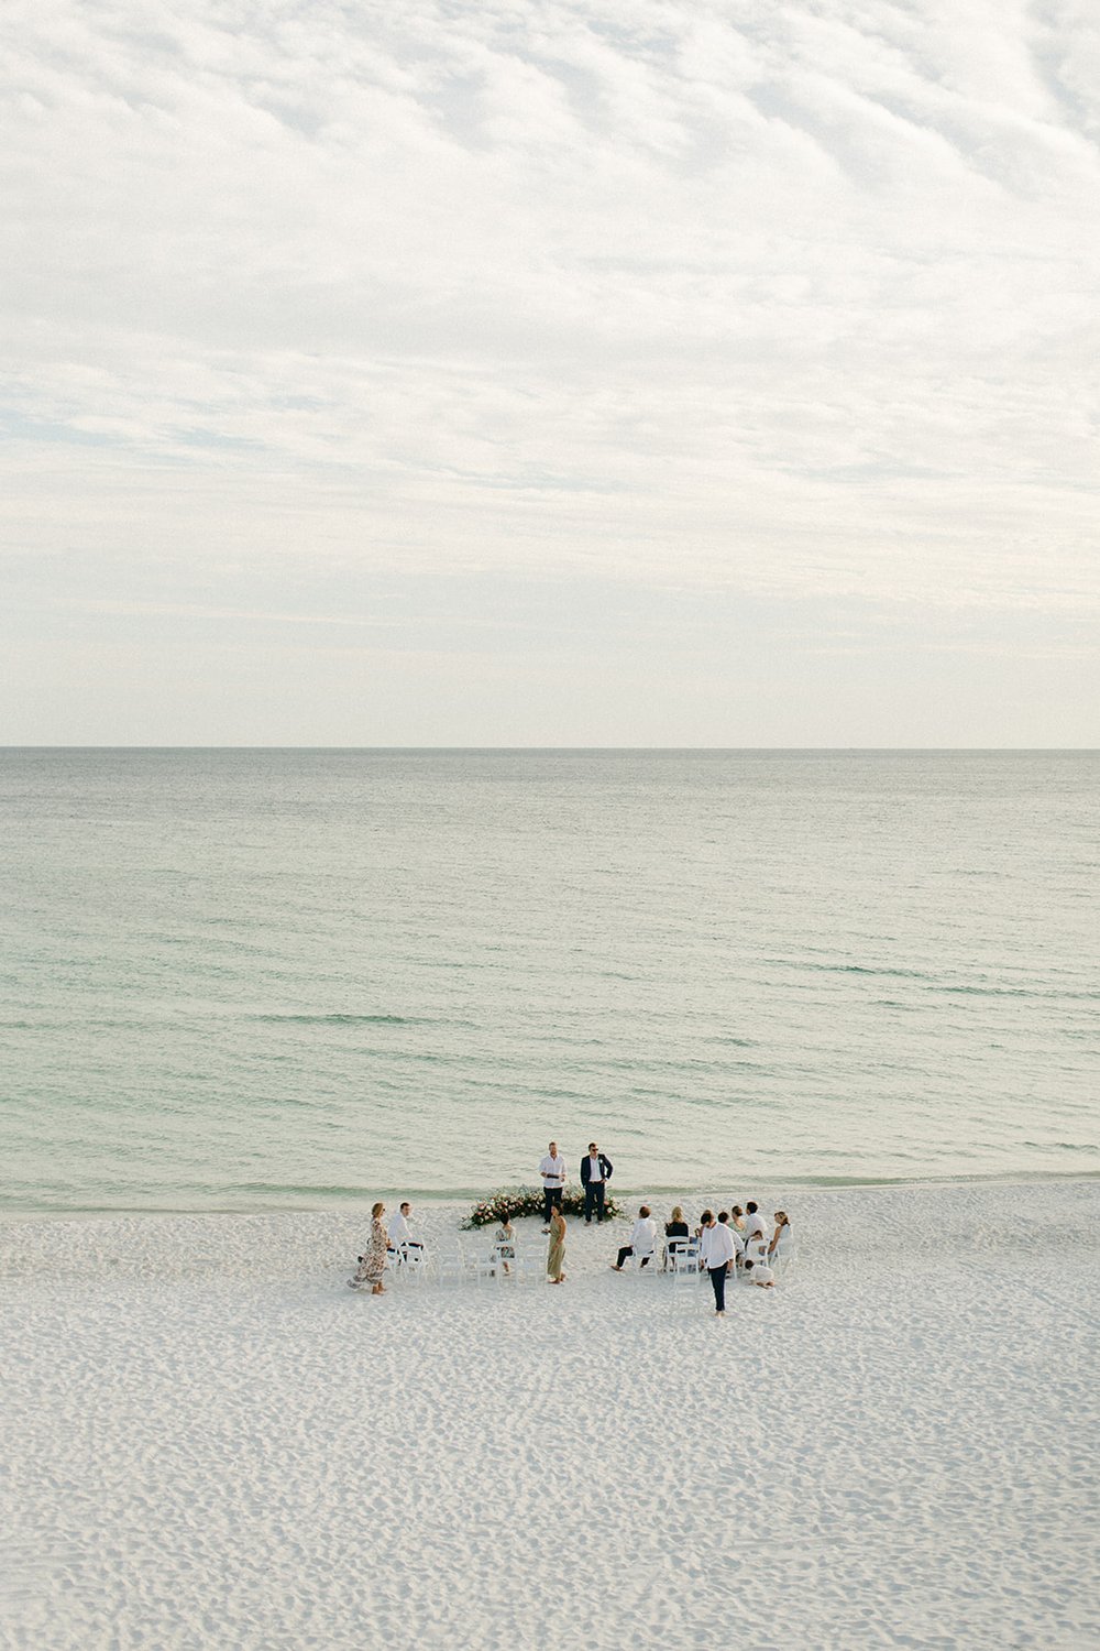
[[[0,756],[0,1205],[1095,1174],[1088,753]]]

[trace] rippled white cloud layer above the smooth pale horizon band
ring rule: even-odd
[[[336,608],[340,578],[496,570],[864,599],[869,634],[897,603],[1095,614],[1084,7],[13,0],[5,28],[28,599],[78,555],[181,617],[196,568],[295,558]]]

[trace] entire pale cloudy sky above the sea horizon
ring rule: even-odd
[[[8,0],[3,745],[1100,745],[1088,0]]]

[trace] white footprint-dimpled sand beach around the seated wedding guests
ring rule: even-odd
[[[0,1641],[1100,1643],[1100,1184],[762,1204],[800,1255],[724,1321],[622,1223],[383,1299],[368,1212],[0,1223]]]

